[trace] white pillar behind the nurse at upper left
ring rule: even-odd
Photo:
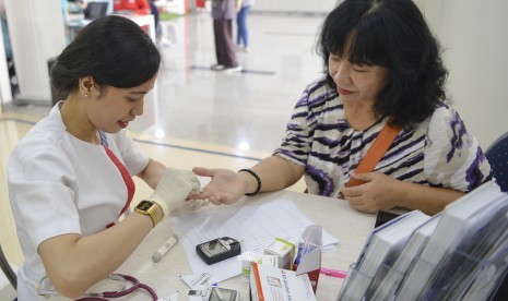
[[[5,0],[14,65],[16,98],[50,104],[47,61],[66,47],[61,0]]]

